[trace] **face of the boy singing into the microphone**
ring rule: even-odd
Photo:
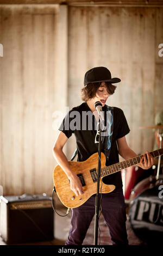
[[[106,100],[109,96],[110,94],[108,93],[106,84],[105,82],[102,82],[101,86],[97,89],[96,96],[95,98],[93,98],[93,100],[95,99],[95,102],[100,101],[102,103],[102,106],[105,106]]]

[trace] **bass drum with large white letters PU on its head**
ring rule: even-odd
[[[129,220],[134,233],[146,244],[162,243],[163,175],[149,176],[130,195]]]

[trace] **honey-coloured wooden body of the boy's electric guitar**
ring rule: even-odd
[[[64,170],[61,169],[59,164],[53,170],[54,187],[62,204],[64,204],[67,208],[77,208],[78,206],[84,204],[93,194],[96,194],[97,182],[95,180],[93,181],[93,174],[91,174],[90,170],[96,169],[94,170],[94,174],[95,172],[98,172],[98,153],[91,155],[86,161],[68,161],[68,163],[70,164],[73,172],[80,176],[80,179],[83,182],[84,194],[81,196],[76,196],[76,194],[70,189],[70,182],[67,175],[65,174]],[[105,155],[103,153],[101,153],[101,168],[102,167],[105,167]],[[114,185],[102,184],[100,180],[100,193],[109,193],[114,189]]]

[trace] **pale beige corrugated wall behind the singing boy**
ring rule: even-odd
[[[108,105],[126,114],[130,147],[153,148],[153,132],[139,126],[153,125],[163,107],[162,8],[0,5],[0,15],[4,194],[51,193],[58,134],[52,123],[57,111],[82,103],[84,74],[93,66],[107,66],[122,80]],[[74,149],[72,137],[68,159]]]

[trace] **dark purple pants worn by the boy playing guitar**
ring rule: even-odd
[[[113,245],[128,245],[126,204],[123,192],[102,194],[102,214],[108,225]],[[99,208],[100,209],[100,208]],[[82,245],[86,231],[95,215],[95,195],[78,208],[72,209],[71,229],[65,245]]]

